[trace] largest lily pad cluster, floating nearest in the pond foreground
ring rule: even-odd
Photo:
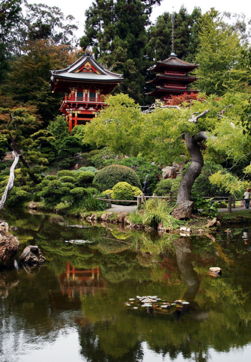
[[[167,301],[164,298],[158,296],[136,296],[136,298],[130,298],[128,302],[124,302],[124,306],[131,307],[132,309],[146,310],[151,312],[169,312],[173,313],[176,310],[188,305],[189,302],[183,300]]]

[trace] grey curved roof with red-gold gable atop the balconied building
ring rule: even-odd
[[[81,86],[100,88],[100,85],[107,85],[109,92],[110,88],[113,89],[123,80],[121,74],[103,68],[89,52],[65,69],[50,70],[50,74],[54,92],[65,92],[71,87]]]

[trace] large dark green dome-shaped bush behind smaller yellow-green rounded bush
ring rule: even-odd
[[[111,189],[118,182],[128,182],[132,186],[141,188],[141,182],[136,172],[130,167],[121,165],[104,167],[98,171],[94,182],[100,184],[101,190]]]

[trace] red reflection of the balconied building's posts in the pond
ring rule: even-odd
[[[69,298],[78,298],[91,294],[94,296],[95,291],[103,290],[105,293],[106,285],[100,280],[99,266],[91,270],[79,270],[70,265],[67,261],[66,270],[58,277],[62,295]]]

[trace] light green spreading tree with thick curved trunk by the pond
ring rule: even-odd
[[[210,96],[205,101],[192,102],[192,108],[157,108],[143,114],[128,96],[110,96],[109,107],[86,125],[85,141],[95,142],[98,147],[109,146],[116,153],[141,154],[162,165],[191,157],[192,163],[180,183],[180,189],[186,191],[182,200],[189,200],[203,157],[213,162],[217,157],[222,163],[231,160],[236,164],[240,159],[249,163],[246,150],[250,140],[243,135],[240,124],[247,95],[226,94],[216,99]]]

